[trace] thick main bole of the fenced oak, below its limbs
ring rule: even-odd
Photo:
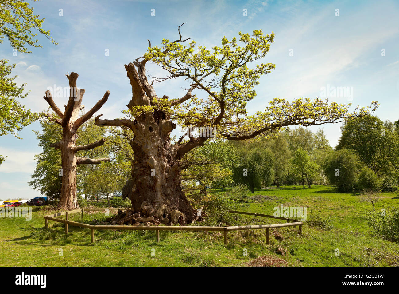
[[[142,216],[155,216],[165,224],[187,224],[192,222],[194,214],[180,186],[177,149],[170,144],[168,131],[172,123],[168,120],[159,123],[140,122],[140,131],[130,141],[134,152],[132,180],[126,183],[122,193],[132,201],[134,212],[141,212]]]

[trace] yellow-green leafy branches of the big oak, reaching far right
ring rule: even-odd
[[[256,96],[255,86],[262,75],[275,68],[272,63],[257,63],[269,52],[274,37],[273,32],[265,35],[262,30],[253,30],[252,34],[239,32],[238,38],[228,40],[223,37],[221,46],[208,49],[196,46],[195,41],[184,43],[190,38],[183,40],[180,34],[179,40],[164,39],[161,46],[150,46],[143,56],[143,64],[154,62],[167,72],[157,80],[184,78],[190,82],[190,88],[183,99],[155,99],[151,105],[135,107],[132,114],[154,112],[160,108],[182,128],[212,126],[220,138],[247,140],[289,125],[338,122],[377,108],[377,102],[372,102],[367,109],[357,107],[350,114],[350,105],[329,103],[328,100],[299,98],[288,102],[275,98],[264,112],[247,115],[247,102]],[[205,98],[192,94],[196,88],[205,91]]]

